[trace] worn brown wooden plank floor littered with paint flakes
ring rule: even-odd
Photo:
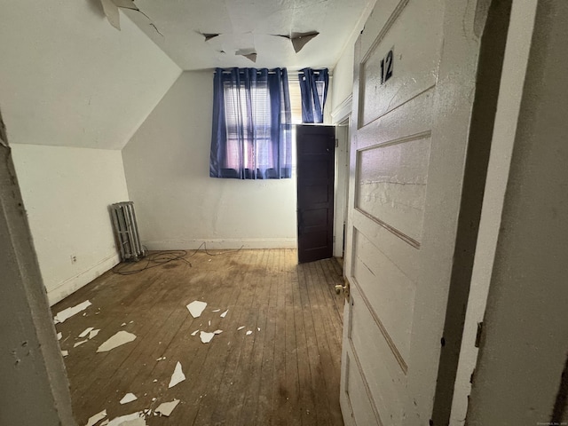
[[[170,417],[150,415],[147,424],[343,425],[343,296],[334,291],[341,266],[298,265],[293,249],[217,253],[189,251],[185,261],[131,275],[106,272],[53,307],[55,314],[92,304],[56,326],[79,425],[103,409],[113,419],[174,398],[181,402]],[[185,307],[193,300],[208,304],[196,319]],[[87,327],[99,335],[74,348]],[[217,329],[223,333],[210,343],[192,335]],[[96,353],[120,330],[136,340]],[[169,389],[178,361],[186,380]],[[127,392],[138,399],[120,405]]]

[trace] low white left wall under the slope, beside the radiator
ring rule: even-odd
[[[14,145],[12,154],[54,304],[118,263],[107,206],[128,200],[121,152]]]

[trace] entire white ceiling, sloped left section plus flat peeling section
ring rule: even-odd
[[[182,69],[334,67],[375,4],[135,1],[143,13],[121,9],[120,31],[101,0],[3,5],[0,106],[12,144],[122,149]],[[311,32],[296,52],[290,37]]]

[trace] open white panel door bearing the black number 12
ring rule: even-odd
[[[346,425],[432,417],[481,15],[467,0],[378,0],[356,44]]]

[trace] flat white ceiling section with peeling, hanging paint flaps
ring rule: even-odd
[[[144,14],[125,13],[182,69],[299,69],[334,67],[351,32],[375,0],[136,0],[135,3]],[[287,37],[311,32],[319,35],[296,53]],[[256,62],[242,56],[252,52],[256,52]]]

